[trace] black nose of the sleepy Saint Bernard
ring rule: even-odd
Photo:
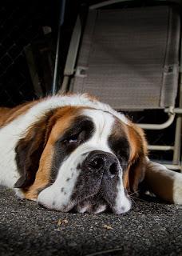
[[[117,175],[119,171],[117,158],[113,154],[101,150],[94,150],[89,153],[86,162],[90,170],[105,170],[105,174],[109,175],[110,178]]]

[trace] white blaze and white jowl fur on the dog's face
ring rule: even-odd
[[[81,170],[77,170],[77,165],[78,163],[83,162],[89,152],[93,150],[101,150],[112,153],[108,145],[108,138],[111,134],[115,120],[113,115],[105,113],[101,110],[83,110],[82,114],[92,118],[95,125],[95,132],[88,142],[78,146],[77,149],[70,154],[69,158],[67,158],[60,166],[56,181],[53,183],[53,185],[49,186],[45,190],[42,190],[42,192],[38,195],[38,202],[48,208],[68,211],[73,207],[71,195],[73,194],[74,185],[76,184],[77,178],[81,172]],[[67,178],[71,178],[69,182],[66,182]],[[61,192],[61,187],[64,187],[66,194]],[[114,209],[118,214],[121,214],[122,212],[131,208],[129,199],[125,197],[124,193],[122,171],[121,180],[117,186],[117,189],[119,195],[114,203]],[[88,209],[89,206],[84,206],[84,208],[80,209],[80,211],[83,212]],[[101,210],[105,210],[105,207],[103,206],[101,209],[97,209],[98,212],[101,212]]]

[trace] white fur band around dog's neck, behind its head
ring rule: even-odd
[[[109,105],[91,101],[86,94],[76,94],[70,96],[53,96],[45,98],[38,102],[25,114],[22,114],[14,121],[0,128],[0,184],[13,188],[14,183],[18,180],[19,174],[16,166],[14,149],[18,140],[22,138],[26,130],[38,121],[47,111],[61,106],[89,106],[95,109],[107,111],[122,122],[128,123],[124,114],[119,114]]]

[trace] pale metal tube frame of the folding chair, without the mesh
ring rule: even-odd
[[[129,0],[133,1],[133,0]],[[104,6],[113,5],[119,2],[126,2],[125,0],[109,0],[105,2],[97,3],[93,6],[89,6],[89,10],[98,9]],[[166,2],[166,0],[154,0],[154,2]],[[180,3],[180,0],[173,0],[170,2]],[[81,42],[81,20],[77,17],[76,24],[73,29],[72,38],[69,45],[69,51],[65,62],[64,79],[60,89],[60,93],[65,93],[68,90],[70,78],[73,78],[73,74],[76,72],[77,53]],[[173,150],[173,159],[171,165],[165,165],[172,170],[180,170],[182,172],[182,156],[180,152],[181,148],[181,130],[182,130],[182,40],[180,38],[180,89],[179,89],[179,107],[168,107],[164,109],[164,112],[168,114],[168,120],[161,124],[138,124],[144,130],[163,130],[172,125],[176,117],[176,132],[174,146],[161,146],[161,145],[148,145],[149,150]]]

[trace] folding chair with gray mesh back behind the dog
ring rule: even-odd
[[[175,114],[182,114],[179,8],[101,8],[113,2],[121,1],[90,6],[83,33],[77,18],[61,92],[94,94],[117,110],[164,110],[166,122],[140,124],[144,129],[164,129],[174,122]],[[148,147],[174,150],[173,164],[168,167],[181,170],[180,131],[178,117],[174,146]]]

